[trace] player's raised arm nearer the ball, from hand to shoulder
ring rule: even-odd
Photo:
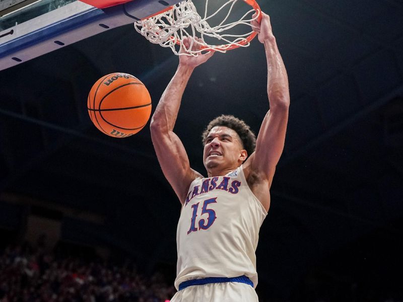
[[[183,42],[186,47],[190,46],[191,41],[187,38],[184,38]],[[193,49],[199,47],[193,44]],[[181,203],[185,200],[190,183],[200,174],[190,168],[186,150],[173,128],[183,92],[193,69],[206,62],[212,55],[213,52],[198,56],[179,56],[178,69],[162,94],[151,119],[151,138],[158,161]]]

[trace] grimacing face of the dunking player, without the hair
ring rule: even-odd
[[[245,150],[239,135],[228,127],[213,127],[206,137],[203,160],[206,169],[231,169],[245,160]]]

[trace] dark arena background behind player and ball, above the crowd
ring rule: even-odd
[[[287,67],[286,145],[260,230],[261,300],[403,298],[403,3],[260,1]],[[110,72],[138,77],[153,110],[175,72],[171,50],[132,25],[0,72],[2,238],[30,217],[59,240],[135,257],[172,276],[180,204],[149,125],[128,138],[91,123],[87,95]],[[217,53],[198,67],[175,132],[205,174],[200,134],[224,113],[257,133],[268,109],[263,46]]]

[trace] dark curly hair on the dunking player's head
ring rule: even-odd
[[[250,130],[250,127],[239,118],[233,115],[221,115],[212,120],[203,134],[201,134],[203,145],[209,135],[211,129],[216,126],[225,126],[234,130],[241,138],[243,148],[248,153],[248,157],[254,152],[256,148],[256,135]]]

